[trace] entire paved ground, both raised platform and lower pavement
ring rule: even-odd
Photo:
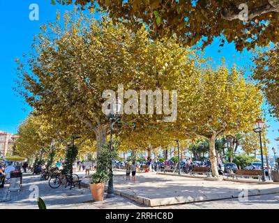
[[[78,174],[81,178],[84,176],[83,173]],[[214,182],[202,178],[165,176],[156,173],[137,174],[137,181],[133,183],[126,181],[123,174],[117,171],[114,177],[114,189],[116,194],[121,196],[116,195],[101,202],[93,201],[91,191],[86,187],[73,190],[64,187],[52,189],[47,181],[40,181],[40,176],[27,174],[24,175],[20,192],[11,192],[7,198],[8,187],[0,190],[0,208],[38,209],[36,201],[33,201],[31,196],[34,188],[38,188],[39,196],[45,200],[48,209],[279,208],[278,184]],[[88,181],[88,178],[84,178],[83,184],[86,185]],[[249,197],[239,199],[241,192],[245,194],[243,190],[247,190]],[[150,203],[141,203],[139,197]]]

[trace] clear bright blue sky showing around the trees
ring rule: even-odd
[[[39,6],[39,21],[29,20],[31,3],[37,3]],[[56,10],[63,13],[64,10],[72,8],[73,6],[53,6],[50,0],[0,1],[0,130],[16,133],[20,122],[31,111],[27,105],[24,105],[22,98],[13,91],[16,79],[15,58],[20,58],[22,54],[29,51],[33,36],[39,32],[39,26],[54,21]],[[223,57],[229,66],[236,63],[237,66],[244,67],[251,63],[248,52],[236,52],[233,44],[225,44],[220,48],[221,52],[218,52],[219,44],[218,40],[215,40],[205,49],[205,55],[211,56],[217,64]],[[269,147],[272,148],[276,146],[274,139],[279,137],[279,123],[268,118],[268,125],[270,125],[268,137],[271,141]]]

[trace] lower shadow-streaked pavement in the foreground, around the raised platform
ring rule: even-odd
[[[37,187],[38,186],[38,187]],[[38,188],[39,196],[45,200],[47,208],[80,208],[80,209],[139,209],[148,208],[139,203],[130,201],[124,197],[116,196],[112,199],[105,199],[102,202],[93,202],[90,190],[86,188],[69,190],[59,187],[52,189],[47,181],[40,181],[40,176],[24,176],[23,186],[20,192],[11,192],[10,200],[0,202],[0,208],[31,208],[37,209],[36,201],[29,199],[33,188]],[[30,190],[29,190],[30,189]],[[7,187],[0,189],[0,199],[6,194]],[[221,201],[207,201],[200,203],[188,203],[173,206],[161,206],[158,208],[167,209],[193,209],[193,208],[214,208],[214,209],[232,209],[232,208],[279,208],[279,193],[266,194],[255,197],[248,197],[248,201],[239,202],[238,199],[226,199]]]

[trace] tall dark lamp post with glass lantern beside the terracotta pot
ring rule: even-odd
[[[110,120],[110,151],[113,152],[112,146],[112,134],[113,134],[113,125],[116,121],[120,120],[119,112],[121,111],[121,100],[114,100],[110,104],[110,112],[106,114],[107,118]],[[112,160],[110,162],[110,180],[107,187],[107,198],[114,197],[114,186],[113,186],[113,171],[112,171]]]

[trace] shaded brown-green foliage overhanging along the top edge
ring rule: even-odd
[[[220,45],[227,40],[238,50],[279,40],[278,0],[52,0],[55,2],[81,8],[98,3],[114,21],[121,20],[134,30],[146,24],[153,38],[175,34],[190,46],[202,40],[204,47],[217,36],[222,38]],[[248,21],[243,21],[243,15]]]

